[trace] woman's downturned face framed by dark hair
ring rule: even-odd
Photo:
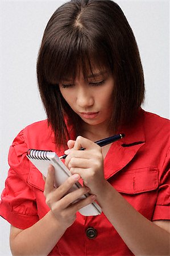
[[[60,92],[65,101],[88,125],[108,123],[113,106],[114,79],[107,72],[93,70],[85,81],[82,73],[73,82],[62,81]]]

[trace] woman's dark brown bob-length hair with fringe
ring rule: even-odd
[[[138,46],[117,3],[109,0],[72,0],[55,11],[40,47],[37,75],[40,96],[56,143],[69,138],[66,120],[81,134],[81,119],[69,107],[59,82],[93,73],[93,64],[114,77],[110,127],[117,131],[130,122],[144,100],[144,78]]]

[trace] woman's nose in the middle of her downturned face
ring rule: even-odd
[[[93,106],[94,97],[90,93],[89,88],[80,88],[77,92],[77,105],[81,108],[88,108]]]

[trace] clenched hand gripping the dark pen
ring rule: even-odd
[[[71,145],[73,146],[71,148]],[[103,156],[101,147],[96,143],[78,136],[76,141],[68,141],[69,150],[65,151],[65,165],[71,174],[79,174],[90,193],[97,195],[106,180],[103,174]],[[84,147],[85,150],[80,150]]]

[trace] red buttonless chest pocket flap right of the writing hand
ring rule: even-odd
[[[133,195],[152,191],[158,187],[158,170],[154,167],[122,170],[108,181],[118,192],[122,193]]]

